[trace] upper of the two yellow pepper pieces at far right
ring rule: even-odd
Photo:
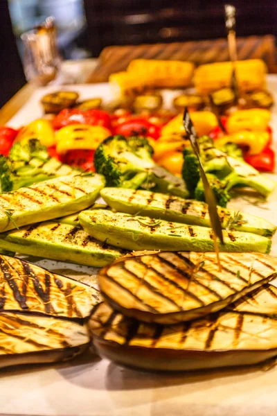
[[[264,131],[270,121],[271,114],[268,110],[252,108],[251,110],[239,110],[231,114],[226,121],[226,130],[233,135],[240,130]]]

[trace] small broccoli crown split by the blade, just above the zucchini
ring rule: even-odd
[[[220,179],[218,179],[215,175],[211,173],[206,173],[208,182],[215,193],[215,200],[217,201],[217,205],[220,207],[226,207],[229,200],[231,200],[231,196],[229,191],[226,189],[226,185]],[[205,194],[204,194],[204,187],[202,180],[199,180],[197,187],[195,188],[195,199],[198,201],[205,202]]]

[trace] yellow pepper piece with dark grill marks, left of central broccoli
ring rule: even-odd
[[[110,130],[101,125],[71,124],[56,133],[57,153],[68,150],[96,150],[99,144],[111,136]]]

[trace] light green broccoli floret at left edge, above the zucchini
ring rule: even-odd
[[[31,139],[24,146],[17,142],[10,149],[9,157],[0,157],[0,191],[15,191],[75,172],[78,171],[50,157],[47,148],[39,140]]]

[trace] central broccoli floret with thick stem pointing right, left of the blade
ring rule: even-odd
[[[146,139],[107,137],[96,149],[94,166],[105,176],[107,186],[168,192],[188,196],[184,181],[155,164]]]

